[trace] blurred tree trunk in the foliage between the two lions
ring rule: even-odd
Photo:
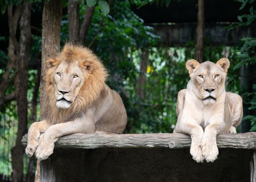
[[[145,97],[145,86],[146,86],[146,73],[147,73],[147,66],[148,66],[148,49],[142,50],[142,57],[139,69],[139,76],[136,85],[136,93],[140,98]]]

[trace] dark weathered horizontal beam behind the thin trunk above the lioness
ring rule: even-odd
[[[158,46],[193,46],[196,42],[196,23],[173,23],[170,25],[152,25],[155,34],[160,36]],[[229,23],[205,23],[205,46],[211,45],[238,45],[241,38],[256,36],[256,24],[250,27],[240,27],[228,30]],[[188,44],[190,43],[190,44]]]

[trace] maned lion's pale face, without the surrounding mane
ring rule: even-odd
[[[85,76],[78,61],[67,63],[62,61],[52,73],[55,84],[57,108],[67,109],[75,101],[76,96],[85,82]]]

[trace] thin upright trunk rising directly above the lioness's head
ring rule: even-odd
[[[196,60],[203,62],[204,48],[204,0],[198,0]]]

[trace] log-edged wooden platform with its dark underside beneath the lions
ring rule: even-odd
[[[22,144],[27,145],[27,135]],[[190,144],[184,134],[68,135],[41,161],[40,181],[256,182],[255,132],[219,134],[213,163],[196,163]]]

